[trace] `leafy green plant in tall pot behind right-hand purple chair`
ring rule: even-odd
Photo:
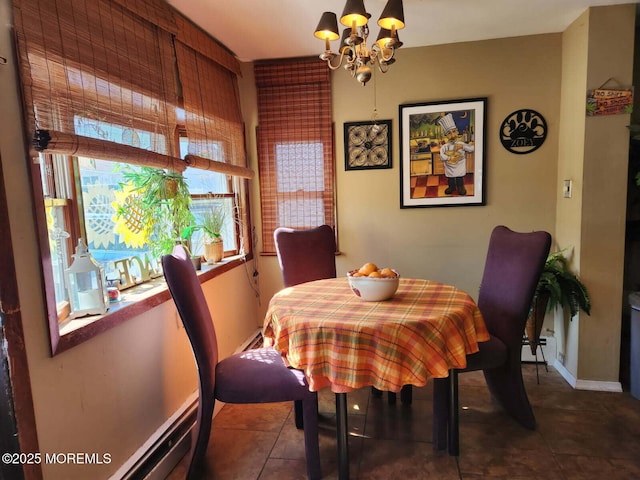
[[[527,338],[533,355],[540,341],[544,316],[556,307],[567,309],[570,319],[580,310],[587,315],[591,314],[591,299],[587,288],[569,268],[569,260],[565,257],[564,250],[549,254],[538,280],[526,324]]]

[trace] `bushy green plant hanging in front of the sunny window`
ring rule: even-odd
[[[144,232],[155,257],[171,253],[183,240],[183,230],[193,224],[191,195],[179,173],[159,168],[125,167],[123,189],[130,194],[116,207],[116,219]]]

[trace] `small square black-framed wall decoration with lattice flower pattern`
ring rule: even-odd
[[[391,167],[391,120],[345,122],[345,170]]]

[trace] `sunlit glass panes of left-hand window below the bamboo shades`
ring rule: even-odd
[[[156,272],[160,269],[141,233],[121,228],[122,219],[116,216],[116,205],[126,196],[122,188],[125,184],[123,172],[125,169],[139,170],[139,167],[62,155],[42,155],[42,162],[50,165],[43,169],[49,174],[42,175],[42,179],[43,191],[47,192],[45,212],[56,310],[59,321],[63,322],[69,315],[64,272],[72,262],[71,255],[78,238],[86,239],[93,258],[104,266],[107,280],[114,284],[131,287],[149,280],[143,278],[140,271],[144,264],[152,264]],[[77,177],[74,171],[78,172]],[[222,231],[225,256],[240,253],[239,230],[235,228],[240,221],[235,218],[236,195],[231,191],[227,176],[187,169],[184,177],[192,193],[191,211],[195,223],[199,223],[201,214],[214,205],[224,209],[227,219]],[[49,187],[50,183],[57,188]],[[73,193],[74,184],[80,187],[77,195]],[[197,232],[192,239],[192,253],[204,254],[204,243],[203,233]],[[134,257],[141,262],[131,261]],[[128,278],[122,278],[123,275]]]

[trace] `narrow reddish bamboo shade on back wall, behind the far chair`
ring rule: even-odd
[[[335,227],[331,77],[315,58],[260,62],[254,72],[262,243],[273,253],[278,227]]]

